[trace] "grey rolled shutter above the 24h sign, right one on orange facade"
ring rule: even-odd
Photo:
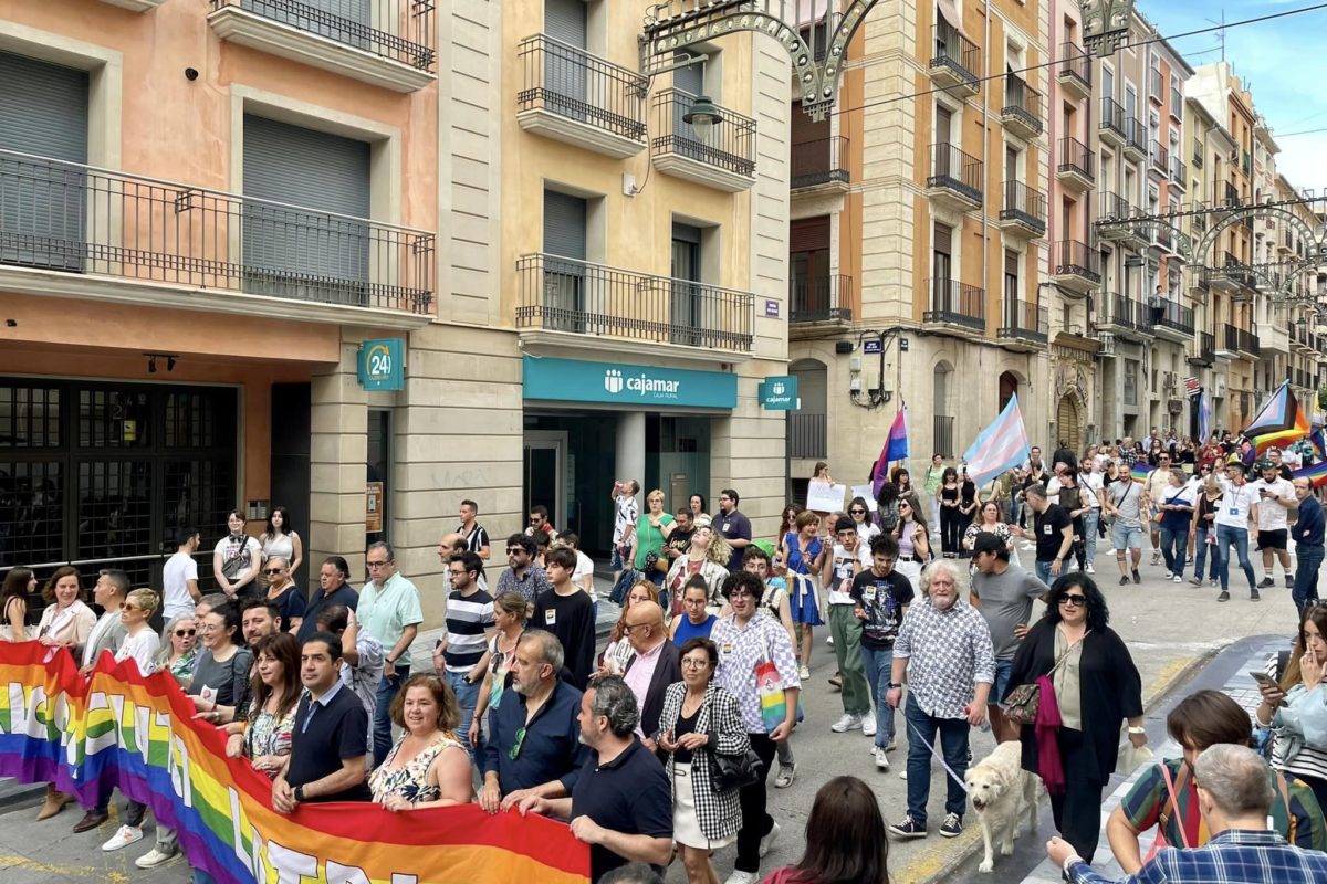
[[[244,196],[247,290],[370,306],[366,143],[245,115]]]

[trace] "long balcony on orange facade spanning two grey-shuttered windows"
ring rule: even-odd
[[[0,151],[0,290],[419,329],[434,235]]]

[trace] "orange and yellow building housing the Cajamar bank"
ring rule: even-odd
[[[210,550],[284,505],[301,582],[389,539],[435,623],[466,497],[494,565],[532,505],[606,550],[624,476],[738,488],[772,531],[788,58],[725,36],[646,78],[640,30],[608,0],[0,0],[0,569],[157,582],[180,526]]]

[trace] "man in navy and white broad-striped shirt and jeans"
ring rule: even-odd
[[[456,738],[470,749],[470,717],[475,714],[479,683],[484,679],[488,639],[494,634],[494,599],[479,588],[483,561],[475,553],[458,553],[447,562],[451,594],[447,595],[447,631],[433,649],[438,675],[447,680],[456,704],[460,724]]]

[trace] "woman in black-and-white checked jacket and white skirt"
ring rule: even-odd
[[[695,637],[682,645],[681,653],[682,680],[664,694],[656,742],[667,753],[664,769],[673,783],[673,840],[687,884],[711,884],[718,877],[710,854],[735,842],[742,827],[739,790],[714,786],[711,758],[742,757],[751,738],[736,698],[714,684],[718,647]]]

